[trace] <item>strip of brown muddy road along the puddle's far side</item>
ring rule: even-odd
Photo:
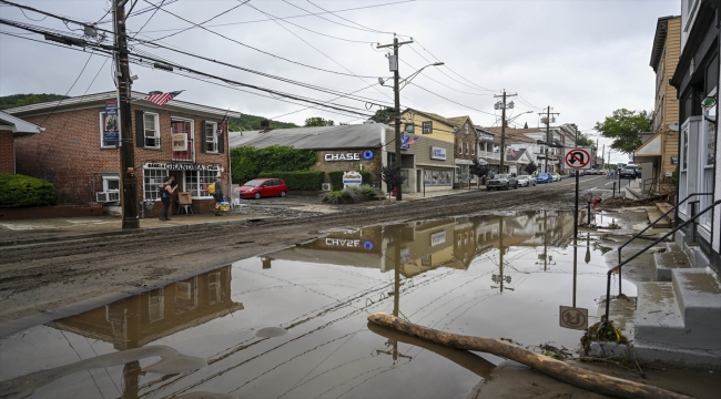
[[[364,203],[334,214],[297,214],[272,222],[197,226],[2,249],[0,323],[112,293],[150,289],[167,280],[273,252],[324,232],[499,211],[571,209],[572,190],[454,194],[379,205]]]

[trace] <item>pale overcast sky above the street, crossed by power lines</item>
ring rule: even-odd
[[[100,28],[112,30],[112,23],[102,23],[111,17],[103,18],[109,0],[16,1],[74,20],[101,21]],[[163,0],[150,1],[160,4]],[[681,8],[680,0],[165,0],[164,3],[161,11],[129,18],[131,35],[144,27],[136,38],[160,39],[192,27],[180,18],[201,23],[227,11],[203,24],[207,30],[190,29],[161,42],[344,93],[366,88],[355,94],[367,98],[368,102],[335,100],[336,95],[151,45],[132,43],[135,50],[236,82],[321,102],[335,100],[337,104],[372,114],[377,105],[369,110],[366,106],[374,101],[392,104],[393,91],[378,84],[379,76],[392,75],[385,58],[387,49],[378,50],[370,43],[390,43],[395,32],[402,41],[415,40],[399,50],[402,78],[431,62],[445,62],[445,66],[425,69],[403,89],[402,108],[444,116],[470,115],[475,124],[489,126],[499,119],[499,112],[494,110],[498,101],[494,94],[505,89],[518,94],[509,99],[516,104],[509,110],[511,117],[518,115],[515,123],[538,126],[537,113],[550,105],[552,112],[560,113],[557,123],[576,123],[593,139],[597,137],[593,124],[613,110],[653,109],[656,76],[649,60],[656,23],[659,17],[680,14]],[[133,11],[146,8],[151,8],[146,0],[138,0]],[[65,32],[79,29],[77,24],[65,25],[34,12],[26,11],[23,16],[14,7],[0,7],[0,17]],[[296,18],[277,19],[287,17]],[[82,95],[114,89],[112,65],[105,62],[105,57],[91,54],[90,50],[49,45],[39,34],[27,34],[8,25],[1,25],[0,31],[22,32],[23,38],[41,41],[0,34],[0,95],[68,92]],[[140,92],[185,90],[179,100],[301,125],[311,116],[332,119],[336,123],[364,120],[362,115],[306,109],[251,89],[242,92],[236,90],[242,88],[216,80],[213,83],[221,85],[140,65],[131,68],[139,76],[133,90]],[[527,111],[532,112],[521,115]],[[601,139],[600,143],[603,142]],[[626,155],[612,156],[612,161],[626,161]]]

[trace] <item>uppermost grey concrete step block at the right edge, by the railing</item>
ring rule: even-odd
[[[721,284],[705,269],[673,269],[672,284],[687,328],[700,340],[715,342],[721,349]],[[705,337],[704,335],[708,335]]]

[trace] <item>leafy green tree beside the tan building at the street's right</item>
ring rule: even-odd
[[[611,149],[631,153],[641,145],[639,133],[649,132],[653,122],[653,114],[647,111],[629,111],[620,109],[613,111],[611,116],[606,116],[603,122],[596,122],[593,129],[603,137],[613,139]]]

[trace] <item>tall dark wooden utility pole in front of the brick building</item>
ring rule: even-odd
[[[130,69],[128,66],[128,34],[125,32],[125,3],[113,0],[115,30],[115,79],[118,81],[118,110],[120,113],[120,187],[123,209],[123,228],[139,228],[138,177],[135,176],[135,153],[133,147],[132,115],[130,110]]]

